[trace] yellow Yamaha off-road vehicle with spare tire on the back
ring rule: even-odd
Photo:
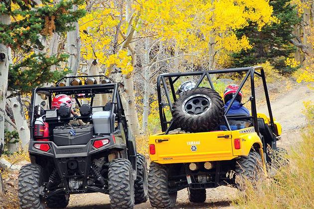
[[[245,77],[225,106],[212,77],[225,78],[227,74]],[[257,113],[257,77],[263,83],[269,116]],[[187,78],[195,85],[178,94],[175,87]],[[251,114],[228,114],[244,85],[251,87]],[[207,188],[240,187],[236,177],[257,181],[259,173],[267,174],[266,167],[272,163],[269,150],[278,155],[285,152],[276,146],[281,125],[272,115],[262,67],[161,74],[157,96],[162,133],[149,139],[148,187],[153,207],[172,208],[177,191],[185,188],[190,202],[202,203]]]

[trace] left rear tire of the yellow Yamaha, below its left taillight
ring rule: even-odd
[[[148,193],[150,203],[155,208],[173,208],[177,192],[168,193],[168,174],[166,166],[151,163],[148,177]]]

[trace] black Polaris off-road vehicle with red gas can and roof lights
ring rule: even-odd
[[[33,89],[31,163],[18,176],[20,208],[65,208],[70,194],[95,192],[109,194],[112,208],[132,209],[148,200],[147,164],[136,151],[119,84],[107,78],[97,84],[95,77],[65,77],[56,87]],[[72,104],[53,109],[61,94]],[[93,105],[100,95],[109,102]]]

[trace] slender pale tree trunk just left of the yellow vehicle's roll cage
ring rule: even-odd
[[[150,110],[149,99],[150,99],[150,40],[149,38],[145,39],[145,52],[142,58],[142,66],[146,66],[143,69],[144,73],[144,98],[143,98],[143,119],[142,127],[143,133],[147,134],[148,127],[148,115]]]

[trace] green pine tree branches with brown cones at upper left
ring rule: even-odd
[[[67,60],[67,54],[48,56],[42,52],[44,46],[40,38],[52,33],[65,33],[72,30],[70,23],[84,16],[83,9],[71,10],[84,0],[1,0],[0,14],[11,17],[10,24],[0,22],[0,43],[11,48],[13,53],[21,55],[9,66],[8,91],[16,94],[28,93],[32,88],[56,81],[67,74],[50,71],[52,65]],[[36,53],[35,53],[36,52]]]

